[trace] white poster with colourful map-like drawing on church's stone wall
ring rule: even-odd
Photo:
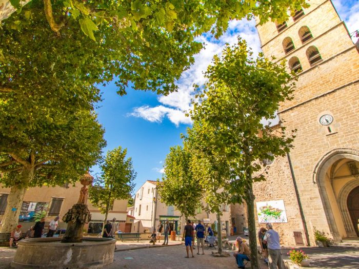
[[[283,200],[256,202],[259,223],[285,223],[287,220],[286,208]]]

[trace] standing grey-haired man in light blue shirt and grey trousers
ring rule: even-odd
[[[273,230],[271,223],[266,223],[268,231],[263,242],[268,244],[269,269],[284,269],[279,234]]]

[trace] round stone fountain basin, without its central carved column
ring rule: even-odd
[[[18,242],[13,268],[102,268],[113,262],[115,239],[84,237],[81,243],[61,243],[61,237]]]

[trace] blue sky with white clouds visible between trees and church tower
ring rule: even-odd
[[[358,1],[334,0],[333,3],[349,32],[359,29]],[[213,55],[221,53],[225,43],[234,44],[237,35],[246,39],[255,53],[260,51],[260,40],[253,21],[232,21],[219,40],[209,35],[198,37],[198,40],[206,43],[206,49],[195,56],[193,66],[177,81],[179,89],[176,93],[159,96],[151,92],[128,90],[127,95],[121,97],[116,94],[113,83],[102,89],[104,100],[97,113],[99,122],[106,130],[107,147],[104,152],[118,146],[127,148],[128,157],[132,158],[137,172],[135,190],[146,180],[161,178],[163,161],[169,148],[182,144],[179,136],[191,124],[184,111],[190,109],[192,85],[203,85],[202,72],[210,64]],[[356,38],[353,40],[355,42]],[[99,172],[98,167],[92,170],[92,174]]]

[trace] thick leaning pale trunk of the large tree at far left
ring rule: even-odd
[[[11,188],[0,233],[11,233],[17,226],[26,186],[31,182],[33,175],[34,169],[24,168],[19,174],[18,183]]]

